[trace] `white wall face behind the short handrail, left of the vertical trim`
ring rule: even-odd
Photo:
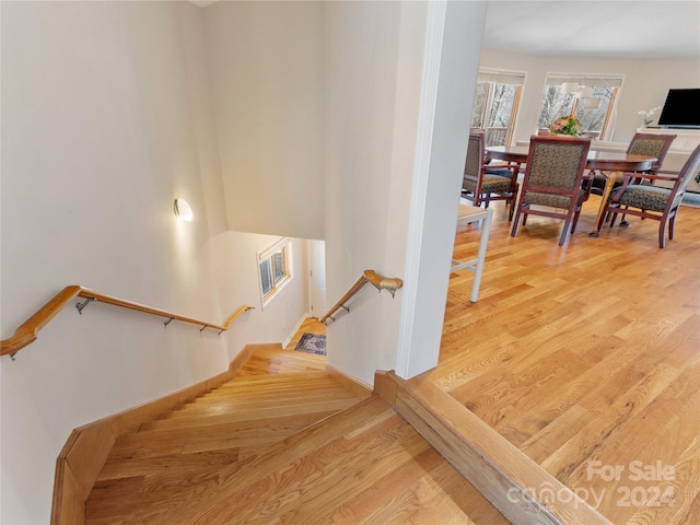
[[[392,267],[384,264],[400,15],[398,2],[328,2],[324,9],[329,304],[368,268],[387,277],[402,277],[400,254]],[[412,156],[410,150],[406,154]],[[406,173],[406,184],[410,184],[410,173]],[[331,366],[373,383],[381,353],[383,305],[400,310],[400,293],[393,301],[387,292],[380,295],[366,287],[353,300],[351,315],[339,315],[329,324]],[[390,331],[384,343],[395,347],[396,326]],[[389,352],[395,353],[395,348]]]

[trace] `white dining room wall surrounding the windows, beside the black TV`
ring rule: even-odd
[[[481,68],[526,71],[515,140],[527,140],[536,131],[545,79],[548,72],[623,74],[617,110],[614,114],[614,142],[629,143],[642,126],[641,110],[663,106],[672,88],[698,88],[700,63],[691,58],[606,59],[545,57],[482,49]],[[658,114],[655,115],[658,117]]]

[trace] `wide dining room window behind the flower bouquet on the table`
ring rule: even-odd
[[[548,128],[559,117],[575,115],[581,121],[584,135],[605,140],[611,135],[610,116],[622,79],[622,75],[575,77],[568,73],[549,73],[545,82],[537,127]],[[592,88],[593,94],[590,97],[578,97],[573,93],[563,93],[563,83]]]

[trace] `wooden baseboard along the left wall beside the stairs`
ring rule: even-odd
[[[221,374],[74,429],[56,460],[51,525],[84,524],[85,501],[117,438],[234,377],[260,347],[246,345]]]

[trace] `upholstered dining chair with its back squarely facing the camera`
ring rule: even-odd
[[[525,178],[521,190],[511,236],[517,232],[517,223],[523,215],[544,215],[563,219],[564,226],[559,245],[564,244],[569,225],[576,228],[581,206],[588,199],[590,185],[582,188],[583,172],[586,166],[591,140],[578,137],[537,136],[529,140],[529,153]],[[537,206],[534,209],[533,206]],[[555,208],[553,211],[540,207]]]

